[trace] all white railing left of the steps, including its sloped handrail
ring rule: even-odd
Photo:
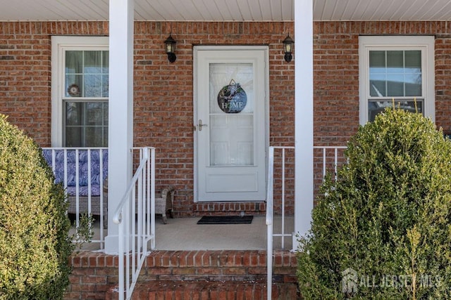
[[[80,214],[99,216],[99,238],[91,242],[104,248],[104,228],[108,216],[108,148],[42,148],[44,159],[51,167],[56,182],[62,183],[68,194],[68,212],[75,214],[75,226],[80,226]],[[133,148],[140,165],[115,211],[113,221],[119,224],[119,299],[130,299],[145,256],[155,248],[155,148]],[[135,220],[135,216],[137,219]],[[97,217],[96,217],[97,218]],[[73,242],[83,242],[74,240]],[[121,255],[123,254],[123,255]]]

